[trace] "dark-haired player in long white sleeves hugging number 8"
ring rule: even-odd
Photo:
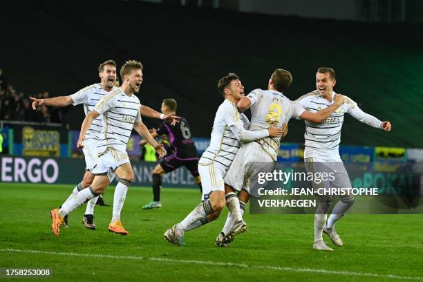
[[[241,142],[250,142],[268,136],[280,138],[283,133],[280,127],[275,126],[261,131],[244,129],[243,121],[236,109],[236,102],[241,99],[244,87],[234,73],[229,73],[219,80],[218,91],[225,97],[225,101],[216,111],[210,146],[207,147],[198,162],[198,172],[203,184],[202,203],[184,220],[164,232],[164,238],[177,245],[183,245],[186,231],[218,218],[225,203],[229,211],[238,215],[230,232],[240,233],[247,230],[247,225],[239,212],[238,198],[233,189],[225,190],[223,178],[225,178],[227,169],[241,146]]]

